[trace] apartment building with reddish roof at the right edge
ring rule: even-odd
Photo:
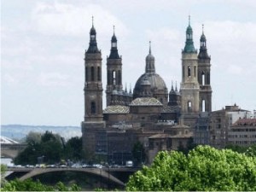
[[[238,119],[230,125],[228,143],[240,146],[256,144],[256,119]]]

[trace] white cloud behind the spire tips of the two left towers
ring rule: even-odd
[[[91,16],[95,17],[96,30],[113,33],[113,25],[122,34],[127,34],[126,26],[108,10],[96,4],[37,3],[32,11],[35,30],[44,34],[63,36],[84,36],[91,27]]]

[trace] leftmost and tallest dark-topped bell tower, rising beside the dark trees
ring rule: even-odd
[[[82,140],[84,153],[96,152],[96,133],[105,130],[102,113],[102,52],[96,43],[96,29],[90,29],[89,48],[84,57],[84,121],[82,122]]]

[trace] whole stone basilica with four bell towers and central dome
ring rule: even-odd
[[[97,47],[92,23],[90,44],[84,57],[84,120],[81,125],[87,160],[97,157],[108,164],[124,165],[126,160],[134,160],[137,143],[143,148],[144,163],[152,162],[160,150],[186,148],[199,113],[212,111],[207,38],[202,30],[198,53],[190,19],[181,58],[180,89],[172,84],[168,91],[164,79],[156,73],[157,65],[149,44],[145,71],[134,89],[128,91],[122,83],[123,63],[113,32],[107,57],[107,107],[103,108],[102,53]]]

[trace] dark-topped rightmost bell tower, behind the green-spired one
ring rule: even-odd
[[[199,109],[201,112],[212,111],[212,87],[211,87],[211,56],[207,53],[207,38],[204,34],[204,25],[202,25],[202,34],[200,38],[200,51],[198,54],[198,82],[200,84]]]

